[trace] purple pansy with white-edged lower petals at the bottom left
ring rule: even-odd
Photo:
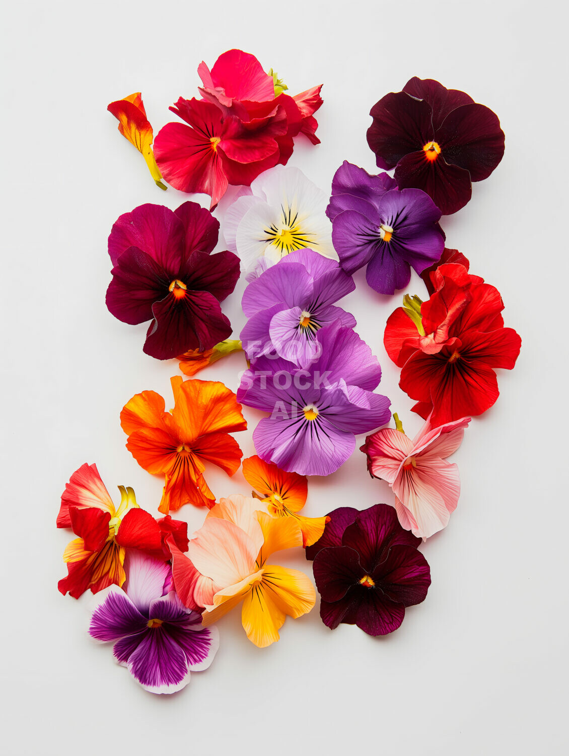
[[[207,669],[219,646],[217,627],[203,627],[174,591],[170,566],[128,550],[124,590],[111,589],[91,617],[89,634],[114,643],[117,661],[144,689],[173,693],[190,682],[190,672]],[[126,591],[126,592],[125,592]]]

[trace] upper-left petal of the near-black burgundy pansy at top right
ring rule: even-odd
[[[370,116],[373,123],[367,129],[367,144],[376,153],[379,168],[394,168],[402,157],[422,150],[434,138],[431,106],[406,92],[385,95],[370,110]]]

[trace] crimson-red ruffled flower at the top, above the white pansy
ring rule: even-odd
[[[222,54],[210,71],[198,68],[203,100],[179,98],[171,107],[187,125],[168,123],[156,136],[156,161],[166,181],[181,191],[212,197],[215,207],[228,184],[249,185],[292,155],[292,138],[305,133],[313,144],[320,87],[295,98],[275,91],[273,76],[255,56],[241,50]]]

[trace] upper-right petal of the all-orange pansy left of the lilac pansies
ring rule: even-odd
[[[246,420],[237,397],[219,381],[172,379],[175,406],[172,417],[181,438],[193,442],[206,433],[245,430]]]

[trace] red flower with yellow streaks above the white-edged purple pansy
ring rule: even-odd
[[[165,538],[187,550],[187,524],[170,517],[156,522],[136,503],[135,491],[119,485],[121,500],[116,507],[96,465],[84,464],[70,478],[61,496],[58,528],[71,528],[79,536],[67,545],[63,560],[66,578],[57,584],[63,596],[78,599],[88,588],[97,593],[111,584],[125,581],[125,549],[143,550],[169,559]]]

